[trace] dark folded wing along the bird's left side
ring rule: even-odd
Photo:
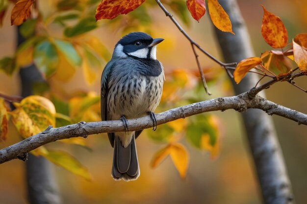
[[[106,98],[108,95],[108,91],[109,91],[109,87],[108,87],[108,83],[110,80],[110,75],[113,69],[113,66],[115,65],[114,61],[109,61],[102,72],[102,77],[101,77],[101,95],[100,95],[100,108],[101,108],[101,118],[102,120],[108,120],[107,118],[107,106],[106,106]],[[114,133],[108,133],[108,137],[110,140],[110,143],[112,145],[112,147],[114,147]]]

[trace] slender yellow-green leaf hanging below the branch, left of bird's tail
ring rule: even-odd
[[[56,165],[63,167],[64,169],[81,176],[87,180],[92,180],[88,170],[73,156],[63,151],[50,151],[43,154],[43,156],[53,162]]]

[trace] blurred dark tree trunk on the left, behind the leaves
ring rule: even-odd
[[[18,45],[26,39],[17,28]],[[32,94],[34,82],[42,82],[44,79],[34,65],[20,69],[22,96]],[[50,162],[43,157],[28,155],[26,160],[26,181],[28,202],[30,204],[60,204],[60,198],[56,191],[55,180],[51,171]]]

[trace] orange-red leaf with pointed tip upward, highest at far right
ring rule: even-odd
[[[274,48],[282,48],[287,45],[288,33],[281,18],[268,12],[263,5],[263,18],[261,25],[262,37],[267,44]]]

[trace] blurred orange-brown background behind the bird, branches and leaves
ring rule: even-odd
[[[40,1],[39,10],[44,12],[43,18],[47,19],[54,14],[56,2],[58,1]],[[169,2],[168,5],[171,5]],[[183,1],[184,4],[185,1]],[[256,56],[271,49],[261,36],[263,10],[260,4],[263,4],[268,11],[281,17],[288,31],[288,42],[291,42],[296,34],[307,31],[306,0],[280,0],[278,3],[274,0],[238,0],[238,4],[246,21]],[[165,14],[154,4],[153,0],[146,1],[141,7],[138,9],[146,9],[150,16],[150,20],[147,22],[133,17],[133,15],[144,15],[137,13],[140,11],[136,9],[126,16],[117,17],[118,19],[112,20],[111,23],[108,20],[99,21],[99,27],[84,35],[98,38],[109,53],[112,53],[117,41],[131,31],[146,31],[153,38],[165,39],[158,46],[157,59],[164,65],[167,81],[161,105],[156,112],[194,101],[233,95],[230,81],[224,70],[205,55],[200,54],[200,61],[208,78],[209,90],[213,93],[211,96],[207,96],[199,85],[200,78],[197,75],[197,65],[190,43],[165,17]],[[170,9],[170,7],[167,8]],[[0,58],[12,56],[16,50],[16,26],[10,25],[11,8],[12,5],[9,6],[0,28]],[[170,11],[174,13],[172,9]],[[187,33],[206,51],[223,60],[208,13],[200,23],[194,21],[188,13],[185,17],[184,15],[182,17],[182,14],[181,16],[175,14],[175,17],[179,19],[179,23]],[[47,29],[50,36],[65,38],[63,37],[63,27],[57,23],[50,23]],[[78,37],[82,38],[83,36]],[[68,81],[51,77],[48,82],[52,93],[63,100],[69,100],[73,97],[72,93],[75,92],[92,91],[92,94],[99,94],[100,76],[105,61],[107,60],[102,61],[101,68],[94,70],[96,78],[94,77],[91,83],[88,83],[84,78],[84,69],[82,68],[77,69]],[[179,75],[179,79],[174,79],[176,74]],[[172,83],[182,81],[182,77],[185,83],[182,86],[177,86],[176,91],[170,91],[173,89]],[[295,81],[297,85],[307,89],[306,77],[297,78]],[[20,95],[20,80],[17,72],[12,76],[0,72],[0,92],[6,95]],[[269,100],[307,113],[307,94],[288,83],[275,84],[266,91],[266,95]],[[161,130],[165,127],[159,126],[156,132],[148,129],[137,139],[141,169],[141,175],[137,181],[113,181],[110,174],[113,149],[104,134],[82,138],[88,148],[61,142],[46,145],[49,149],[61,149],[69,152],[88,168],[92,176],[92,181],[87,181],[52,164],[52,171],[55,173],[58,191],[63,203],[260,204],[261,194],[240,114],[233,110],[212,114],[217,129],[216,138],[219,146],[217,155],[212,156],[212,152],[210,155],[210,151],[195,147],[193,142],[189,142],[185,138],[185,131],[171,133],[172,136],[162,135],[161,139],[157,138],[160,135],[156,135],[165,134]],[[272,117],[296,202],[297,204],[305,204],[307,203],[307,128],[279,116]],[[189,125],[191,121],[196,119],[196,116],[192,116],[189,120],[185,119],[189,122],[186,122],[187,124],[183,122],[183,126]],[[20,140],[21,137],[10,123],[8,139],[0,143],[0,148]],[[171,140],[179,141],[186,146],[189,152],[190,163],[184,180],[180,179],[170,158],[165,159],[154,169],[150,167],[153,155]],[[0,203],[27,203],[24,165],[23,161],[17,159],[0,165]]]

